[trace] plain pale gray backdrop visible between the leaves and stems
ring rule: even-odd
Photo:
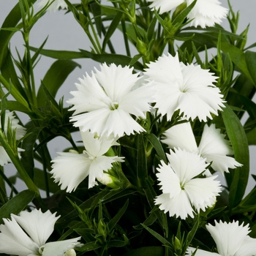
[[[12,7],[14,7],[15,4],[17,4],[17,2],[17,0],[0,0],[0,25],[3,23],[4,18],[8,15],[10,10],[12,10]],[[78,1],[72,1],[72,3],[75,2]],[[221,2],[222,6],[228,6],[226,0],[222,0]],[[238,33],[244,31],[244,29],[246,29],[246,26],[250,24],[248,41],[246,46],[252,45],[252,43],[256,42],[255,0],[230,0],[230,4],[233,6],[234,12],[240,12]],[[35,8],[35,10],[37,10],[37,8]],[[79,48],[81,48],[85,50],[90,50],[91,43],[89,42],[89,39],[86,38],[86,34],[83,32],[83,29],[80,28],[79,24],[75,21],[71,13],[67,15],[64,15],[64,13],[64,11],[46,13],[31,30],[30,44],[34,47],[39,47],[39,45],[42,44],[45,38],[48,37],[48,42],[46,42],[45,44],[46,49],[78,50]],[[222,26],[224,26],[225,29],[228,29],[227,20],[223,20]],[[114,39],[112,39],[112,42],[117,53],[124,53],[124,45],[122,39],[119,40],[120,37],[121,33],[116,32]],[[119,41],[121,41],[121,43]],[[15,48],[17,48],[19,52],[23,54],[23,39],[20,33],[16,33],[15,36],[12,37],[10,45],[12,48],[12,53],[14,53]],[[251,50],[255,50],[255,48],[252,48]],[[135,50],[134,53],[136,53]],[[42,56],[42,59],[39,61],[39,64],[37,64],[37,67],[34,69],[34,72],[35,81],[38,86],[40,84],[40,80],[42,80],[42,78],[45,75],[45,72],[47,72],[48,68],[53,63],[53,61],[55,60]],[[91,72],[91,70],[94,69],[94,67],[99,67],[99,63],[91,61],[89,59],[75,61],[77,61],[82,66],[82,68],[76,68],[69,75],[64,85],[59,90],[59,93],[57,94],[57,100],[59,100],[64,95],[64,102],[66,102],[66,100],[70,98],[69,91],[75,90],[74,83],[78,82],[78,78],[82,77],[85,72]],[[23,120],[26,121],[26,116],[22,116]],[[80,140],[78,136],[77,138],[78,140]],[[57,138],[56,140],[50,142],[50,150],[52,157],[56,157],[57,151],[62,151],[63,148],[66,148],[68,146],[69,144],[62,138]],[[255,146],[250,146],[251,173],[256,174],[255,156]],[[13,173],[15,173],[15,170],[13,170],[11,164],[8,165],[5,169],[8,173],[7,176],[12,176]],[[18,180],[17,186],[19,189],[26,189],[26,186],[20,180]],[[250,177],[249,186],[246,189],[246,193],[248,193],[254,186],[255,181]]]

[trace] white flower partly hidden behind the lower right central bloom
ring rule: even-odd
[[[233,155],[233,148],[230,146],[230,142],[225,140],[225,135],[220,133],[220,129],[215,127],[215,124],[211,124],[210,127],[206,124],[203,127],[203,135],[198,147],[189,123],[170,127],[164,135],[165,138],[162,142],[167,144],[169,148],[180,147],[200,154],[206,159],[206,162],[212,162],[211,167],[222,173],[223,176],[225,172],[229,172],[228,168],[234,169],[242,166],[233,157],[227,156]]]

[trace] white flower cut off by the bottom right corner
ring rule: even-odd
[[[217,253],[206,252],[197,249],[196,256],[200,255],[220,255],[220,256],[252,256],[256,255],[256,239],[248,236],[249,224],[239,225],[238,221],[230,223],[219,223],[215,220],[215,226],[206,225],[207,230],[211,233],[217,244]],[[187,255],[192,255],[195,249],[189,248]],[[205,253],[205,254],[203,254]]]

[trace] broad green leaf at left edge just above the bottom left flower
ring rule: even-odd
[[[10,219],[10,214],[19,214],[20,211],[23,211],[31,200],[34,199],[35,195],[35,192],[23,190],[22,192],[18,193],[18,195],[15,195],[15,197],[12,197],[12,199],[5,203],[4,206],[1,206],[0,224],[4,223],[3,218]]]

